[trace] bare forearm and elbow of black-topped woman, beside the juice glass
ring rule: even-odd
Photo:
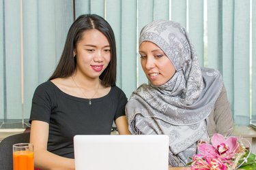
[[[74,169],[74,159],[64,158],[47,151],[49,125],[46,122],[31,122],[30,143],[34,149],[35,167],[40,169]]]

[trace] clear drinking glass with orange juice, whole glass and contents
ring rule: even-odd
[[[33,144],[16,143],[13,145],[14,170],[33,170]]]

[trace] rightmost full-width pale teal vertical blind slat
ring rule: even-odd
[[[234,3],[233,34],[233,112],[235,122],[246,122],[250,112],[250,0]]]

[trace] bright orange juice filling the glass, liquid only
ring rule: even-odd
[[[13,154],[14,170],[33,170],[33,151],[20,150]]]

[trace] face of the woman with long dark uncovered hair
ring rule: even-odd
[[[88,78],[98,78],[111,61],[111,48],[108,39],[97,29],[83,33],[76,44],[76,71]]]

